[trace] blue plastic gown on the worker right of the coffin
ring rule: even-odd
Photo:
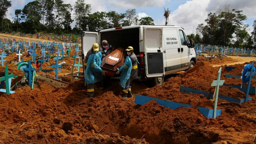
[[[122,88],[125,88],[125,83],[130,78],[131,70],[132,70],[132,61],[131,61],[130,57],[127,56],[124,61],[124,65],[122,65],[119,68],[119,71],[121,72],[119,84]]]

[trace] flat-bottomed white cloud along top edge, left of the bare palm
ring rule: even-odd
[[[153,7],[163,6],[170,0],[109,0],[110,5],[121,8],[138,8],[138,7]]]

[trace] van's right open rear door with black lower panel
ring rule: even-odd
[[[162,28],[143,28],[146,77],[161,77],[164,75],[162,33]]]

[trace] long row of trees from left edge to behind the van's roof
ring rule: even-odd
[[[154,25],[151,17],[138,19],[136,9],[128,9],[125,13],[95,12],[91,13],[91,5],[85,0],[76,0],[72,6],[63,0],[35,0],[27,3],[23,9],[16,9],[11,20],[4,18],[11,1],[0,2],[1,32],[50,32],[50,33],[81,33],[81,31],[98,32],[121,26]],[[74,19],[72,19],[72,11]],[[71,23],[75,20],[75,27]]]

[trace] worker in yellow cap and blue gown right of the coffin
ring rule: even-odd
[[[131,83],[134,78],[138,77],[138,60],[133,52],[133,47],[127,47],[126,51],[128,56],[125,59],[124,65],[121,66],[116,72],[116,74],[119,74],[121,72],[120,85],[121,87],[123,87],[123,98],[132,97]]]

